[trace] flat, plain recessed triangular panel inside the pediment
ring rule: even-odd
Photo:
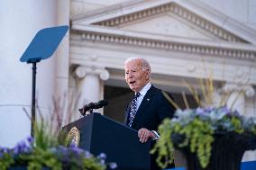
[[[220,40],[220,38],[215,37],[212,33],[178,18],[173,13],[162,13],[143,19],[140,22],[127,22],[118,25],[118,28],[125,31],[146,32],[188,39]]]

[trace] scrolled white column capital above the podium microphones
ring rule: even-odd
[[[75,76],[78,78],[84,78],[86,75],[99,76],[101,80],[108,80],[109,72],[104,67],[95,66],[78,66],[75,68]]]

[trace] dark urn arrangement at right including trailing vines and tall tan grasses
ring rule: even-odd
[[[226,103],[231,94],[223,94],[219,103],[215,103],[214,82],[211,77],[198,80],[199,90],[185,82],[198,105],[195,109],[189,107],[185,93],[182,96],[187,109],[181,110],[178,104],[163,92],[169,103],[176,107],[177,111],[173,119],[167,119],[160,125],[160,139],[151,150],[151,154],[158,153],[156,161],[160,167],[165,168],[172,164],[175,150],[181,150],[189,155],[187,159],[193,159],[187,160],[190,161],[188,170],[240,169],[243,152],[248,149],[256,149],[255,144],[253,144],[256,142],[256,118],[243,117],[239,112],[233,111],[232,107],[227,108]],[[231,138],[228,139],[229,137]],[[245,139],[247,140],[242,141]],[[235,142],[241,144],[242,150],[237,150],[240,147],[232,148],[237,144]],[[215,148],[216,145],[218,148]],[[230,146],[232,147],[228,148]],[[220,151],[218,150],[220,148],[224,149]],[[194,157],[196,158],[194,159]],[[219,157],[223,157],[223,160]],[[229,159],[228,166],[224,165],[227,164],[227,159]],[[191,161],[197,163],[191,163]],[[215,167],[209,167],[211,161],[215,162],[212,164],[215,164]],[[191,164],[194,165],[191,166]]]

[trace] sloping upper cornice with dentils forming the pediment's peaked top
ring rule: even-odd
[[[71,21],[74,24],[115,27],[160,13],[174,13],[221,40],[256,44],[254,30],[195,0],[140,0],[115,4],[93,13],[79,15]]]

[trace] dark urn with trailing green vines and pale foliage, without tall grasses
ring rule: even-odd
[[[256,149],[256,119],[226,107],[178,110],[159,127],[160,139],[152,152],[165,167],[175,149],[187,159],[187,169],[239,169],[243,152]],[[164,161],[163,161],[164,160]]]

